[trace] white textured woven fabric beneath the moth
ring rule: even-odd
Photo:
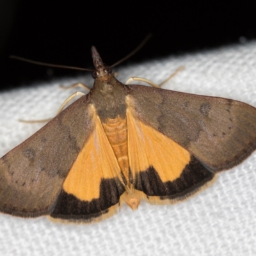
[[[108,60],[104,60],[108,61]],[[256,106],[256,42],[168,57],[118,70],[118,79],[145,77],[160,83],[175,68],[186,69],[164,85],[180,92],[227,97]],[[38,130],[23,119],[54,116],[74,90],[35,84],[0,94],[0,156]],[[256,154],[220,173],[211,188],[176,205],[141,202],[90,225],[64,225],[46,217],[0,214],[0,255],[256,255]]]

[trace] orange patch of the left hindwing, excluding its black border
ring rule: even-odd
[[[63,189],[82,201],[92,201],[100,196],[102,179],[115,179],[120,175],[120,167],[113,148],[99,116],[94,115],[95,129],[74,162]]]

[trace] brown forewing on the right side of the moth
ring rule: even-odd
[[[129,88],[138,117],[212,172],[241,163],[256,148],[256,109],[248,104],[147,86]]]

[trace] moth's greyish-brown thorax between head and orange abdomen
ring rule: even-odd
[[[107,118],[116,118],[118,115],[125,118],[127,91],[127,86],[117,81],[111,74],[95,79],[91,99],[102,122]]]

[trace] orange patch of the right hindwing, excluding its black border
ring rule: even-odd
[[[180,177],[191,157],[187,150],[127,109],[128,154],[132,176],[153,166],[163,182]]]

